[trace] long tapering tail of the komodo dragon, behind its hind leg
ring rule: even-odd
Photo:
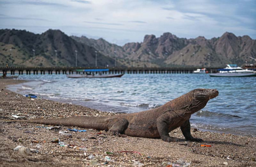
[[[10,120],[9,120],[10,121]],[[28,123],[40,123],[45,125],[62,125],[62,126],[76,126],[80,128],[106,129],[105,119],[103,117],[68,117],[68,118],[57,118],[57,119],[29,119],[29,120],[17,120],[11,122],[28,122]]]

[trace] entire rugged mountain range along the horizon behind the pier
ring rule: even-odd
[[[11,49],[11,50],[10,50]],[[35,59],[33,61],[33,51]],[[0,64],[22,66],[75,66],[75,52],[78,66],[95,67],[97,51],[98,67],[224,67],[225,64],[255,63],[256,40],[250,36],[236,36],[224,33],[221,37],[206,39],[178,38],[171,33],[145,35],[141,43],[127,43],[124,46],[111,44],[86,36],[68,36],[60,30],[34,34],[26,30],[0,30]]]

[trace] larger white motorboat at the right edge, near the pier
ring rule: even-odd
[[[218,69],[219,73],[209,74],[210,77],[253,77],[256,73],[253,70],[243,69],[236,64],[227,64],[226,68]]]

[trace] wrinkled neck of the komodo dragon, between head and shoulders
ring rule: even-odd
[[[170,108],[173,108],[179,116],[189,117],[191,114],[204,108],[208,100],[199,100],[197,97],[194,97],[194,93],[191,91],[166,103],[166,105],[170,105]]]

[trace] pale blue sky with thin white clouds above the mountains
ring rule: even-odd
[[[103,38],[124,45],[170,32],[207,39],[226,31],[256,39],[256,0],[0,0],[0,29]]]

